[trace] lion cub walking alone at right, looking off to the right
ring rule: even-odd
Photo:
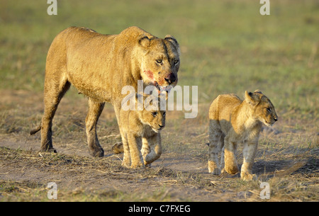
[[[274,105],[262,91],[245,91],[244,101],[233,93],[218,96],[209,108],[209,172],[219,175],[222,169],[228,174],[236,174],[239,171],[235,158],[237,144],[243,142],[244,162],[240,177],[248,181],[257,178],[252,174],[252,164],[259,132],[262,123],[271,126],[276,120]],[[222,154],[218,166],[220,151]]]

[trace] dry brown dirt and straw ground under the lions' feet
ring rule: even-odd
[[[42,93],[0,92],[0,200],[45,201],[49,182],[57,183],[58,201],[264,201],[262,182],[270,185],[271,201],[319,200],[318,134],[298,130],[290,118],[262,131],[253,168],[258,181],[241,181],[238,174],[208,174],[208,105],[199,105],[203,114],[194,120],[185,120],[182,112],[169,112],[162,132],[162,157],[151,168],[130,170],[121,167],[123,154],[111,150],[121,137],[110,105],[104,108],[98,129],[105,157],[89,156],[84,124],[87,99],[71,91],[53,122],[57,154],[38,152],[40,132],[28,134],[40,123]],[[296,144],[301,140],[309,146]],[[238,161],[242,163],[241,151]],[[40,193],[35,195],[34,190]]]

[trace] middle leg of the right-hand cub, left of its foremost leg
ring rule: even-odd
[[[239,171],[237,160],[236,160],[236,150],[237,143],[230,142],[228,137],[225,137],[225,149],[224,149],[224,157],[225,157],[225,171],[228,174],[237,174]]]

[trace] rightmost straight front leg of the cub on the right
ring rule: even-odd
[[[240,172],[240,178],[245,181],[251,181],[257,179],[255,174],[252,174],[252,164],[254,164],[254,157],[257,152],[257,142],[244,142],[244,149],[242,151],[244,156],[244,162],[242,164],[242,170]]]

